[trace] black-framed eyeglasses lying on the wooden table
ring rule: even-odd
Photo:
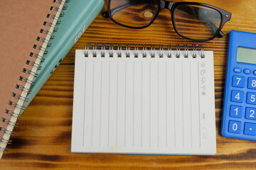
[[[107,0],[105,18],[127,28],[146,28],[159,12],[171,11],[171,21],[178,35],[188,40],[206,41],[221,38],[224,24],[231,13],[208,4],[164,0]]]

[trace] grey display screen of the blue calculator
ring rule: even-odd
[[[237,62],[256,64],[256,49],[238,47]]]

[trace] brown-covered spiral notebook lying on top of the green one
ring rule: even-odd
[[[65,0],[0,0],[0,158],[63,8]]]

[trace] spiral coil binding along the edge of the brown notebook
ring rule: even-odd
[[[56,5],[50,6],[50,12],[46,16],[47,21],[42,23],[41,35],[36,38],[38,44],[33,45],[33,49],[37,52],[28,54],[31,60],[27,60],[26,64],[30,69],[23,68],[21,70],[25,75],[18,77],[21,84],[15,86],[15,89],[18,89],[19,92],[12,92],[11,97],[14,98],[14,101],[8,103],[11,108],[6,108],[4,111],[6,116],[0,118],[0,132],[4,134],[0,137],[0,152],[6,152],[6,145],[11,144],[9,137],[14,134],[13,128],[18,125],[16,119],[21,116],[21,111],[25,109],[23,103],[28,101],[26,96],[31,93],[30,87],[34,84],[33,79],[38,77],[36,72],[41,69],[40,63],[44,61],[43,55],[48,52],[47,47],[50,46],[50,39],[54,38],[53,32],[57,30],[56,25],[60,23],[59,17],[64,15],[62,11],[67,8],[66,2],[68,1],[53,1]]]

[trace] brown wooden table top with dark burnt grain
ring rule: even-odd
[[[223,28],[224,33],[228,34],[233,29],[256,33],[255,0],[198,2],[212,4],[233,13],[231,21]],[[214,51],[217,134],[215,156],[70,152],[75,49],[83,49],[86,42],[140,45],[198,43],[176,35],[170,17],[169,11],[163,10],[149,28],[133,30],[117,26],[102,15],[97,16],[18,120],[16,134],[11,137],[13,142],[9,145],[9,152],[4,153],[1,159],[0,169],[256,169],[256,142],[220,136],[228,35],[201,43],[206,50]]]

